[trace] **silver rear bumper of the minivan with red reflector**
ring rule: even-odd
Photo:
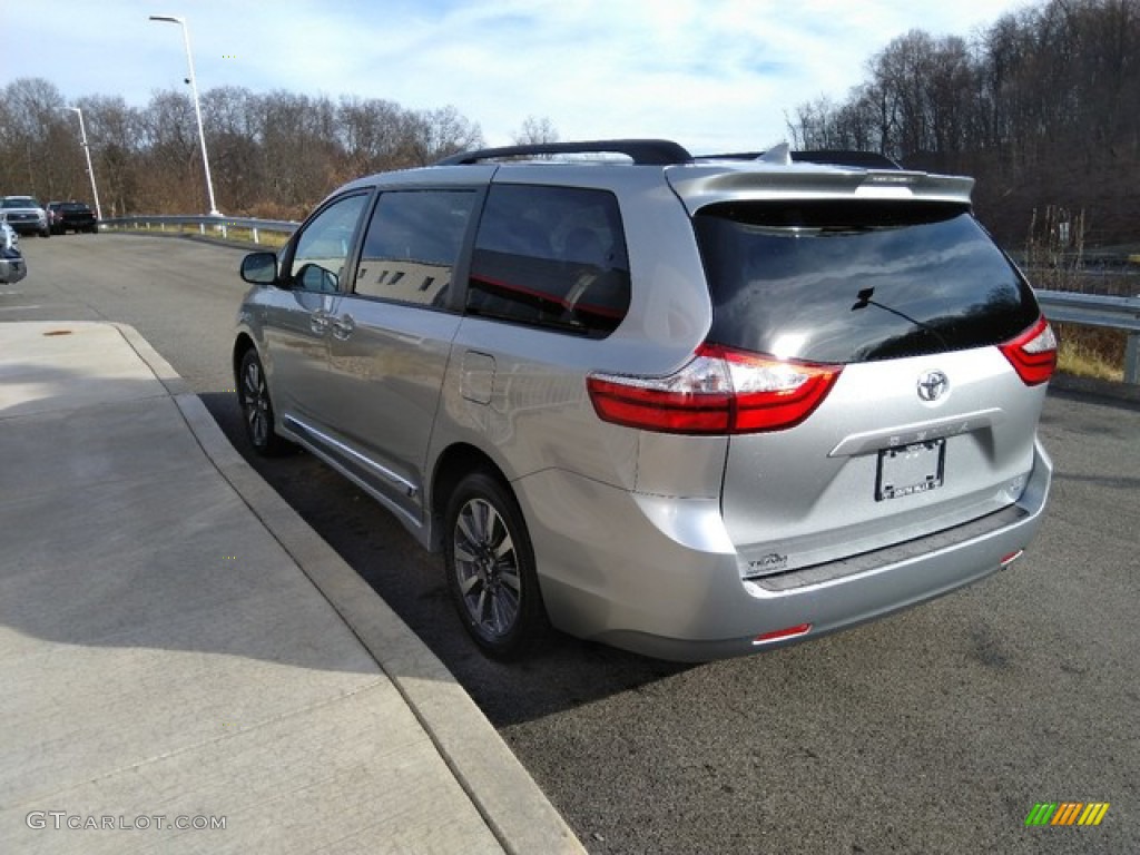
[[[516,484],[551,621],[646,656],[705,661],[856,626],[1000,570],[1041,526],[1052,464],[1037,442],[1026,489],[1004,511],[763,583],[741,579],[712,500],[638,496],[564,474],[552,484],[551,478]],[[800,624],[812,628],[793,640],[754,641]]]

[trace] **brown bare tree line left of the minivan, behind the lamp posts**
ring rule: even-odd
[[[407,109],[393,101],[242,87],[202,93],[214,195],[231,215],[300,218],[344,181],[432,163],[483,145],[479,124],[454,106]],[[194,104],[156,91],[141,108],[121,97],[68,104],[56,85],[22,78],[0,90],[0,193],[41,202],[90,199],[80,142],[82,111],[105,217],[209,209]],[[551,141],[548,120],[528,117],[520,141]]]

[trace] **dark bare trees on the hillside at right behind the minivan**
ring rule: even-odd
[[[803,104],[788,125],[797,147],[975,176],[978,214],[1007,245],[1045,209],[1083,212],[1089,243],[1135,243],[1140,0],[1050,0],[969,41],[912,31],[845,99]]]

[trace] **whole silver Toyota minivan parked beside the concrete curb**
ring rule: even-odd
[[[304,447],[443,554],[487,653],[553,625],[747,654],[1016,560],[1057,342],[968,178],[609,140],[332,194],[253,253],[253,447]]]

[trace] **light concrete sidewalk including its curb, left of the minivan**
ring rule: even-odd
[[[0,852],[583,853],[131,327],[0,324]]]

